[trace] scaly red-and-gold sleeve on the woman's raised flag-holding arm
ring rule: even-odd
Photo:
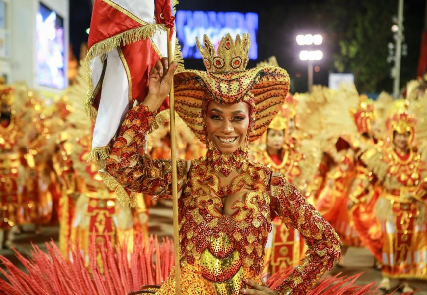
[[[138,150],[143,147],[145,134],[155,117],[146,106],[139,105],[128,112],[118,137],[112,144],[106,169],[129,191],[168,197],[172,194],[171,160],[152,160]],[[187,181],[187,164],[177,161],[178,190]]]

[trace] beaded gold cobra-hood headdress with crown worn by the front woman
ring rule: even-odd
[[[249,61],[249,35],[223,37],[215,52],[208,36],[203,47],[196,40],[206,71],[185,70],[174,76],[175,109],[187,126],[203,143],[206,104],[247,102],[251,106],[252,125],[249,141],[259,138],[286,99],[288,73],[275,66],[246,70]]]

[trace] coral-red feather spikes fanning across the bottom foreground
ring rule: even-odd
[[[19,270],[9,260],[0,255],[0,262],[6,270],[0,272],[7,281],[0,280],[1,294],[44,294],[44,295],[93,295],[128,294],[140,290],[143,285],[160,285],[169,275],[173,266],[173,243],[170,239],[150,236],[144,239],[137,235],[133,239],[133,249],[129,250],[125,241],[113,247],[106,236],[105,244],[91,240],[89,253],[85,255],[78,247],[64,258],[51,241],[47,243],[47,253],[33,245],[32,258],[25,258],[16,252],[26,272]],[[154,257],[153,257],[154,255]],[[267,285],[274,289],[293,268],[282,269],[267,279]],[[356,285],[361,273],[353,276],[327,276],[308,295],[379,295],[375,282]],[[405,293],[405,295],[412,294]]]

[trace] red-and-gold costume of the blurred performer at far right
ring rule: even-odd
[[[427,278],[427,166],[425,152],[415,145],[416,123],[407,110],[394,113],[388,122],[390,143],[361,156],[378,178],[381,192],[375,204],[378,221],[368,220],[367,224],[367,220],[354,215],[355,225],[368,249],[382,263],[385,278]],[[410,133],[409,149],[400,154],[393,137],[406,132]],[[381,235],[370,236],[370,231],[378,227]]]

